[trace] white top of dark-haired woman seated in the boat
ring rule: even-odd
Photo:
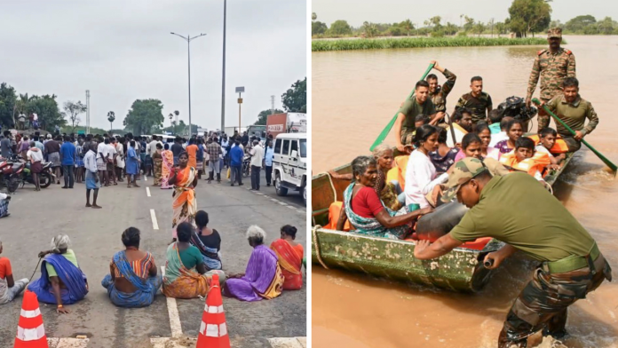
[[[421,208],[429,207],[425,194],[433,192],[433,187],[448,180],[448,173],[435,178],[436,167],[429,156],[420,150],[412,151],[406,169],[406,205],[418,204]]]

